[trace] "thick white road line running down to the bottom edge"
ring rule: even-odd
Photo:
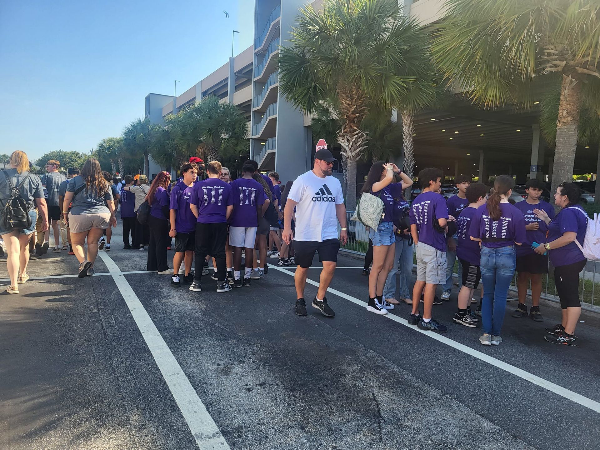
[[[142,302],[125,280],[124,272],[119,270],[115,262],[106,253],[98,252],[98,255],[106,264],[113,280],[115,280],[116,286],[131,311],[133,319],[136,321],[137,328],[142,333],[154,361],[156,361],[167,386],[173,394],[173,398],[177,402],[177,406],[179,406],[179,410],[181,410],[194,439],[196,439],[198,448],[201,450],[230,450],[217,424],[212,420],[190,380],[185,376],[169,346],[167,346],[154,322],[148,316]]]

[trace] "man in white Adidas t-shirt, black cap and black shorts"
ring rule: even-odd
[[[284,215],[284,230],[281,238],[289,245],[293,240],[296,253],[296,314],[306,316],[304,286],[308,268],[313,262],[315,252],[319,252],[319,261],[323,263],[319,290],[313,300],[313,307],[323,316],[334,317],[335,313],[327,304],[325,293],[334,277],[340,241],[348,241],[346,229],[346,206],[341,184],[331,176],[335,158],[327,149],[320,149],[314,155],[314,167],[294,181],[287,196]],[[296,210],[296,236],[292,233],[292,214]],[[338,239],[337,223],[341,233]]]

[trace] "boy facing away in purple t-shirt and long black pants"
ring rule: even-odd
[[[206,167],[208,178],[197,182],[191,193],[190,208],[196,223],[196,270],[190,290],[202,290],[202,269],[206,256],[217,262],[217,292],[227,292],[232,287],[226,280],[225,242],[227,219],[233,211],[231,186],[219,179],[221,163],[211,161]]]

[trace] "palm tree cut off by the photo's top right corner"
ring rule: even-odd
[[[433,52],[446,78],[485,107],[529,103],[560,77],[552,189],[571,180],[580,111],[600,112],[600,2],[449,0]],[[545,87],[545,86],[544,86]]]

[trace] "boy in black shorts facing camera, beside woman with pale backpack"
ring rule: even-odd
[[[542,275],[548,273],[548,255],[538,254],[531,247],[533,242],[540,245],[546,243],[547,224],[533,214],[534,209],[544,210],[550,219],[554,218],[554,208],[548,202],[540,200],[544,193],[544,182],[538,179],[530,179],[525,185],[527,199],[524,202],[515,203],[515,206],[523,212],[525,217],[525,230],[527,241],[517,246],[517,292],[519,304],[512,313],[512,317],[527,316],[527,281],[531,280],[532,307],[529,316],[536,322],[542,322],[542,314],[539,312],[539,296],[542,294]]]

